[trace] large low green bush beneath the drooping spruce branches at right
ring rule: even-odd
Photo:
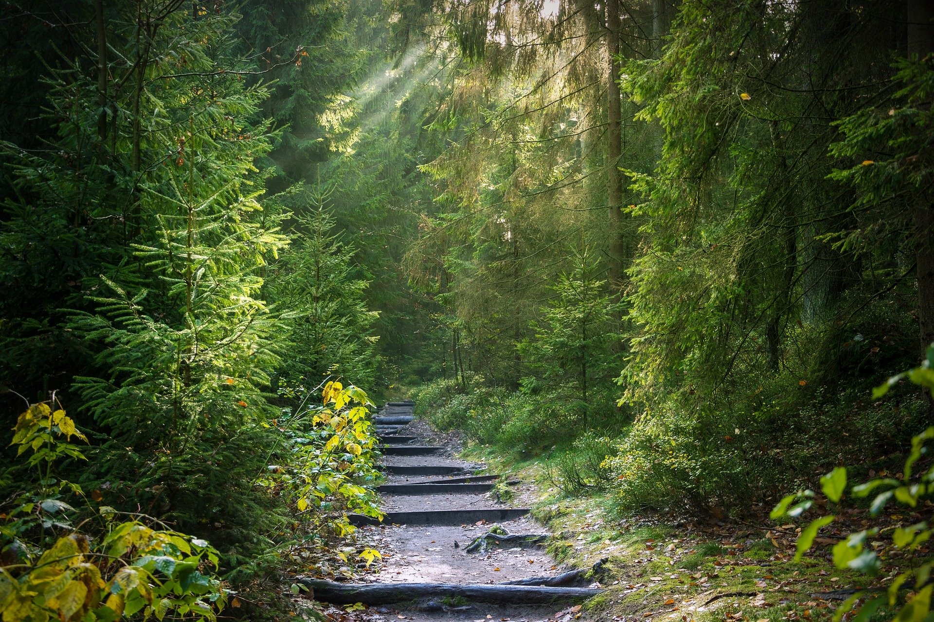
[[[617,503],[742,514],[836,463],[890,466],[908,431],[924,425],[927,407],[917,394],[868,399],[874,381],[867,370],[880,365],[872,350],[882,343],[892,356],[899,352],[885,345],[888,333],[870,331],[882,325],[884,311],[872,310],[861,321],[864,332],[845,341],[836,330],[801,329],[800,339],[812,339],[819,355],[802,351],[779,372],[747,374],[712,395],[672,392],[646,408],[607,463]]]

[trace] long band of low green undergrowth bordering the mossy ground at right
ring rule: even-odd
[[[897,464],[927,405],[910,392],[873,402],[870,386],[863,380],[834,391],[785,374],[750,380],[731,401],[706,408],[672,396],[631,424],[594,418],[589,428],[549,395],[488,387],[479,375],[469,376],[465,391],[453,382],[426,385],[416,404],[435,427],[460,429],[474,445],[543,457],[549,483],[565,494],[609,492],[621,512],[722,518],[759,511],[837,463],[865,473]]]

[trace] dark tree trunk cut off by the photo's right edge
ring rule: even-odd
[[[908,54],[924,58],[934,51],[934,3],[930,0],[908,0]],[[914,197],[913,209],[916,235],[915,259],[918,277],[918,327],[921,352],[934,341],[934,211],[930,197],[920,192]]]

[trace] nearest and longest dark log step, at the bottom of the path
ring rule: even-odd
[[[462,598],[494,604],[543,604],[579,602],[601,593],[590,587],[534,587],[456,583],[334,583],[301,578],[296,583],[308,587],[308,596],[333,604],[362,602],[367,605],[391,604],[423,598]]]

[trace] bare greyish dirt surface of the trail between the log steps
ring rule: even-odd
[[[388,412],[393,418],[398,418],[411,416],[412,410],[411,405],[393,404]],[[384,409],[381,414],[385,412],[387,409]],[[474,474],[490,475],[484,471],[482,463],[469,463],[454,457],[454,454],[460,451],[460,439],[457,436],[440,435],[425,422],[409,422],[399,428],[396,434],[416,436],[417,440],[410,445],[443,446],[445,449],[435,455],[386,456],[382,461],[384,465],[457,467],[460,473],[441,476],[389,473],[386,478],[387,484],[446,483],[446,480],[452,477],[467,477]],[[523,604],[522,601],[527,599],[520,595],[516,599],[507,599],[505,604],[489,604],[476,600],[466,601],[458,596],[413,600],[405,595],[406,590],[412,589],[411,584],[452,584],[455,587],[471,587],[477,584],[491,586],[528,577],[553,577],[568,570],[559,567],[551,559],[544,544],[506,543],[502,546],[493,544],[482,552],[468,553],[466,551],[474,538],[487,533],[494,524],[509,533],[546,533],[545,528],[529,517],[506,521],[481,519],[467,524],[438,524],[438,522],[451,522],[443,518],[447,510],[499,511],[503,507],[510,507],[508,504],[500,503],[497,499],[493,486],[495,482],[488,483],[490,491],[486,494],[446,492],[383,495],[384,511],[389,512],[388,518],[384,524],[378,526],[362,526],[360,536],[361,541],[382,552],[384,562],[378,574],[367,575],[366,583],[359,585],[398,583],[400,584],[400,598],[397,600],[403,602],[375,603],[365,612],[359,612],[355,619],[362,617],[374,622],[399,619],[416,622],[471,620],[539,622],[554,621],[556,614],[560,614],[559,619],[573,618],[572,608],[576,601],[581,600],[580,598],[572,598],[569,601],[568,598],[556,597],[554,601],[551,601],[548,596],[547,600],[550,601],[548,604]],[[432,486],[431,483],[424,485]],[[431,518],[422,519],[418,513],[426,510],[431,511],[431,514],[427,515]],[[410,524],[386,524],[391,520],[394,512],[409,513],[395,516],[406,517]],[[431,523],[425,524],[426,521],[431,521]],[[580,587],[581,584],[573,585]],[[557,592],[559,588],[533,587],[531,589],[539,591],[539,595],[531,599],[541,600],[541,592],[548,589],[554,589]]]

